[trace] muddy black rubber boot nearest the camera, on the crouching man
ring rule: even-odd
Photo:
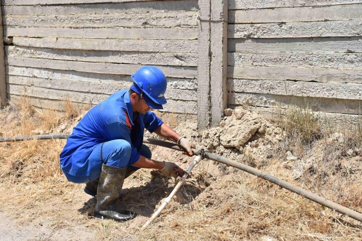
[[[97,217],[105,217],[116,221],[128,221],[136,216],[134,212],[116,207],[115,201],[122,189],[127,168],[102,166],[101,177],[97,189]]]

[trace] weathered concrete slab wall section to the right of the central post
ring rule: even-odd
[[[231,105],[360,114],[362,1],[229,0]]]

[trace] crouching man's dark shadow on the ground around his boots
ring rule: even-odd
[[[176,184],[173,179],[153,176],[144,186],[122,189],[121,194],[123,195],[117,199],[116,205],[122,209],[134,211],[138,215],[150,217],[156,206],[171,193]],[[183,202],[180,204],[191,203],[204,190],[204,187],[200,187],[194,181],[187,181],[178,191],[183,196]],[[96,204],[97,198],[93,197],[85,202],[78,211],[83,215],[94,216]]]

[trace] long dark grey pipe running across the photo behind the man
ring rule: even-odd
[[[38,140],[45,140],[45,139],[65,139],[67,138],[69,135],[64,135],[64,134],[60,134],[60,135],[35,135],[35,136],[19,136],[19,137],[1,137],[0,138],[0,142],[5,142],[5,141],[21,141],[21,140],[31,140],[31,139],[38,139]],[[152,139],[152,138],[143,138],[143,142],[147,143],[147,144],[153,144],[153,145],[159,145],[159,146],[163,146],[163,147],[167,147],[170,149],[174,149],[174,150],[180,150],[183,151],[182,147],[180,147],[177,144],[171,143],[171,142],[167,142],[167,141],[162,141],[162,140],[156,140],[156,139]],[[194,154],[197,154],[199,152],[199,150],[196,149],[192,149]],[[208,158],[211,160],[214,160],[215,162],[218,163],[222,163],[228,166],[231,166],[233,168],[242,170],[244,172],[247,172],[249,174],[255,175],[256,177],[262,178],[268,182],[274,183],[276,185],[278,185],[279,187],[285,188],[291,192],[294,192],[302,197],[308,198],[309,200],[316,202],[322,206],[325,206],[327,208],[330,208],[334,211],[337,211],[341,214],[347,215],[348,217],[351,217],[355,220],[358,220],[360,222],[362,222],[362,214],[359,212],[356,212],[354,210],[351,210],[349,208],[343,207],[342,205],[339,205],[335,202],[332,202],[326,198],[322,198],[312,192],[309,192],[307,190],[304,190],[300,187],[297,187],[293,184],[290,184],[286,181],[283,181],[279,178],[276,178],[272,175],[269,175],[267,173],[263,173],[260,170],[257,170],[255,168],[249,167],[247,165],[244,165],[242,163],[238,163],[235,162],[234,160],[230,160],[228,158],[222,157],[222,156],[218,156],[209,152],[205,152],[203,154],[203,158]]]

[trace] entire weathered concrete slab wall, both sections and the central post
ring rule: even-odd
[[[362,0],[1,3],[14,101],[96,105],[149,64],[168,78],[164,112],[194,115],[200,130],[218,124],[227,101],[360,113]]]

